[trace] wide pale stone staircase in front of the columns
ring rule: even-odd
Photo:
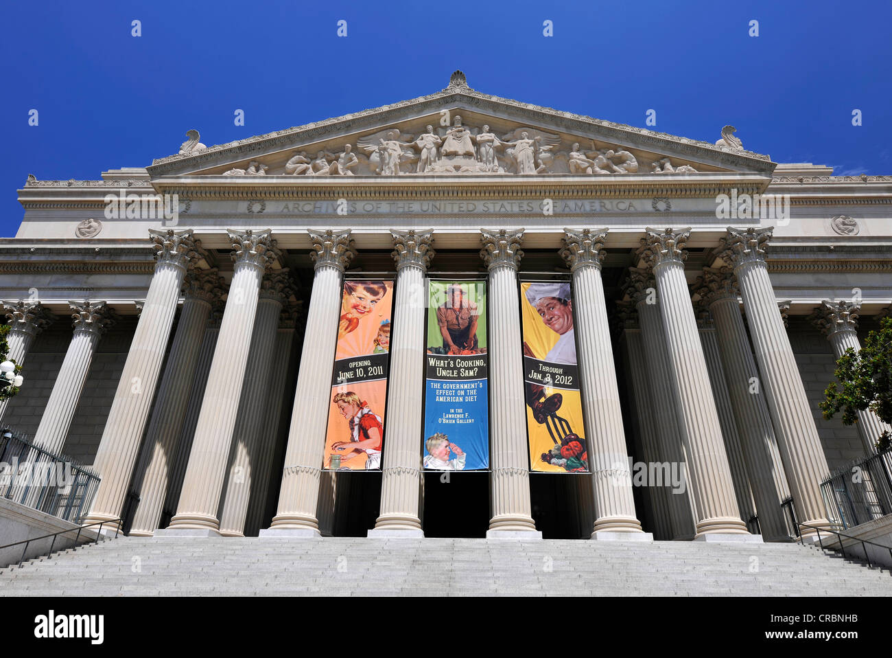
[[[0,596],[889,596],[798,544],[120,537],[0,570]]]

